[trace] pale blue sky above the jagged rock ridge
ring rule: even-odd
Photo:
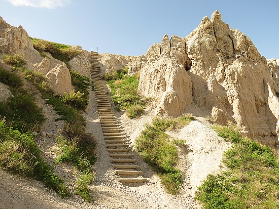
[[[279,59],[279,1],[0,0],[0,16],[31,37],[139,56],[164,34],[185,37],[219,10],[267,59]]]

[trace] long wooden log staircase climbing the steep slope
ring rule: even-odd
[[[96,88],[94,91],[102,133],[108,148],[109,156],[118,176],[119,182],[146,182],[140,166],[136,164],[129,139],[121,128],[121,122],[115,117],[106,91],[104,91],[98,53],[91,52],[91,80]]]

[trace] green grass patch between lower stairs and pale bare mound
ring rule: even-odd
[[[181,171],[175,168],[178,161],[177,144],[181,143],[171,140],[164,131],[181,128],[192,119],[190,114],[175,119],[155,118],[151,125],[146,124],[145,130],[135,140],[135,149],[153,166],[170,194],[177,194],[183,181]]]

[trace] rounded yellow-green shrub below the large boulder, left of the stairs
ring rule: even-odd
[[[71,91],[64,93],[61,100],[68,106],[74,107],[79,110],[85,110],[88,105],[88,101],[83,97],[83,93]]]

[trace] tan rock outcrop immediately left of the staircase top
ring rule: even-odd
[[[75,70],[82,75],[90,77],[90,53],[83,50],[80,46],[72,46],[73,49],[79,50],[80,54],[69,61],[71,70]]]

